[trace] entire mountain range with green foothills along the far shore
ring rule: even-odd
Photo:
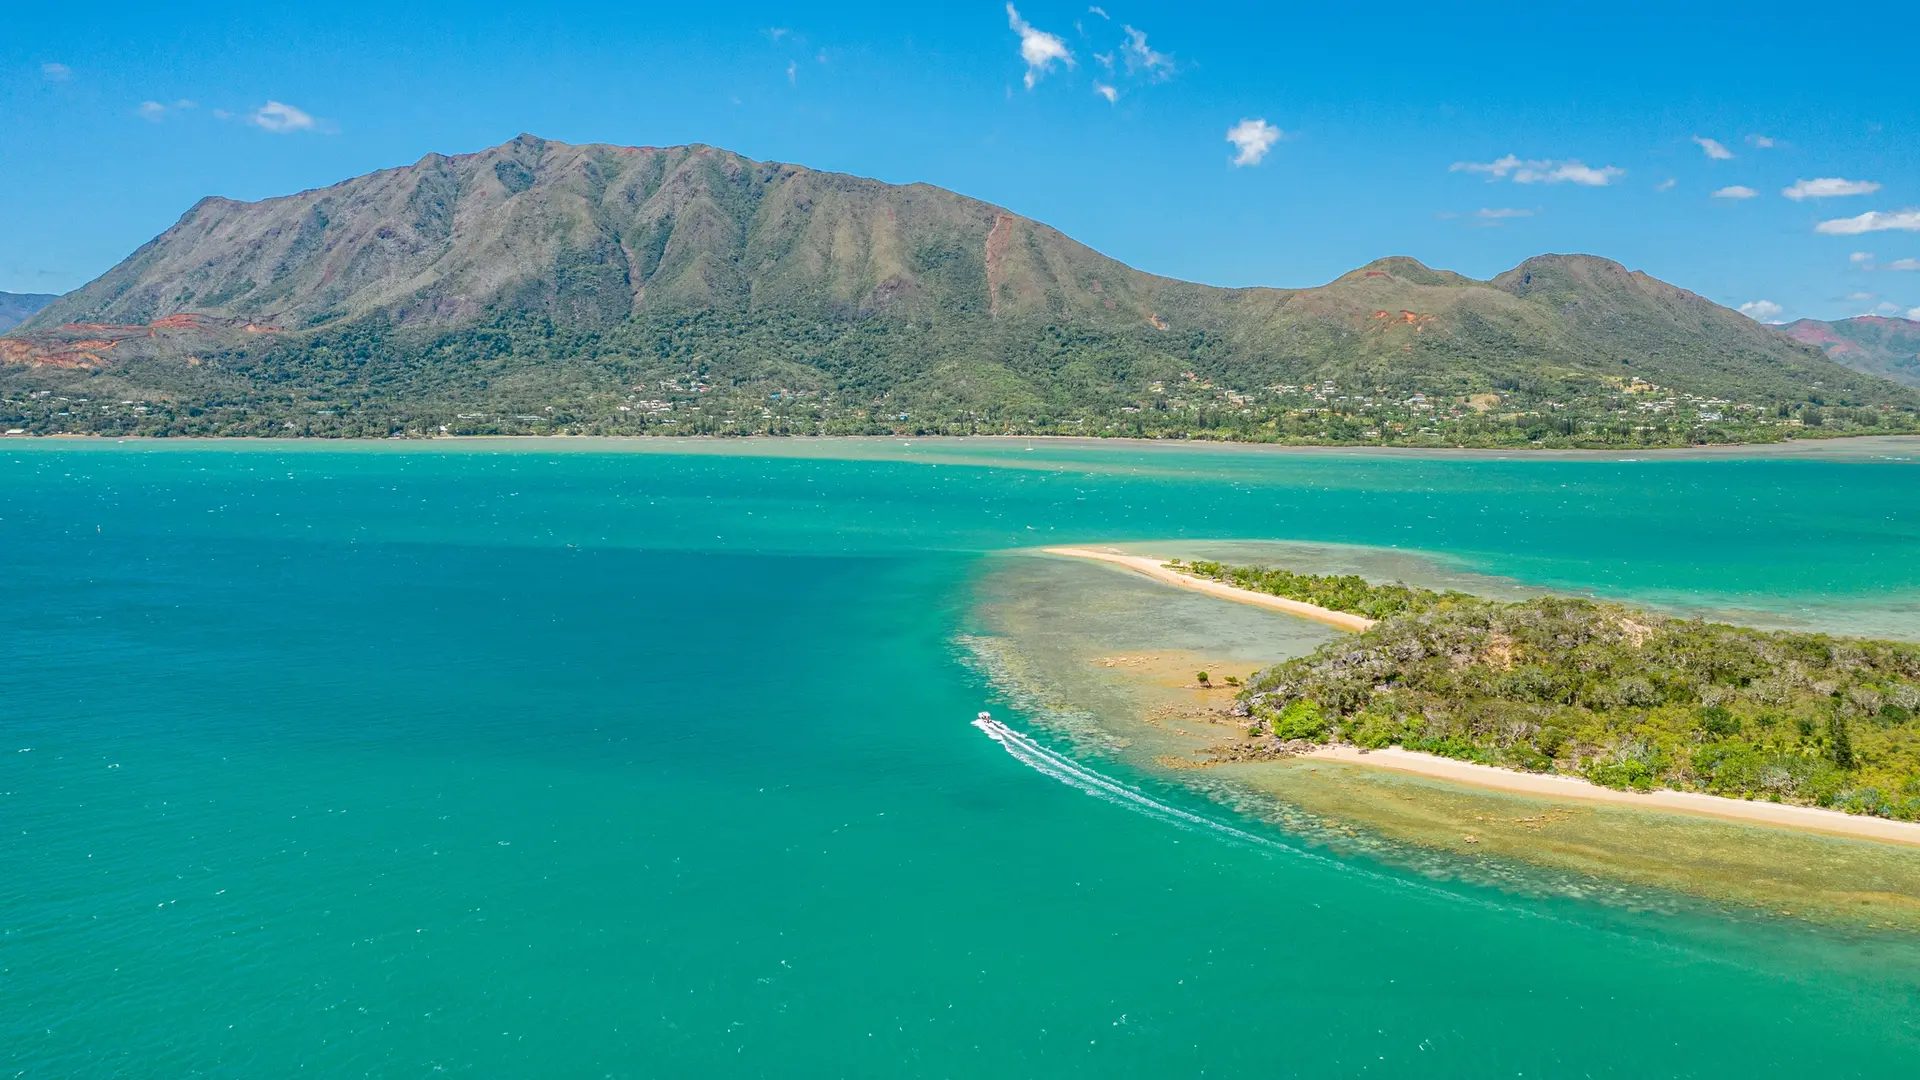
[[[54,407],[79,396],[144,411]],[[202,200],[0,338],[0,400],[31,430],[1436,444],[1903,430],[1920,405],[1592,256],[1492,281],[1388,258],[1319,288],[1213,288],[927,184],[524,135]]]

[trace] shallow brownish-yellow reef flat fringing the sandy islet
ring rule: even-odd
[[[1379,569],[1350,552],[1296,552],[1286,565],[1315,557],[1329,569]],[[991,636],[970,642],[1041,726],[1089,757],[1179,782],[1334,849],[1540,896],[1661,909],[1705,899],[1720,915],[1920,930],[1920,851],[1899,846],[1484,792],[1323,759],[1196,771],[1210,748],[1242,742],[1221,676],[1302,655],[1336,630],[1069,559],[1000,559],[977,592],[975,617]],[[1196,682],[1198,671],[1212,673],[1212,688]]]

